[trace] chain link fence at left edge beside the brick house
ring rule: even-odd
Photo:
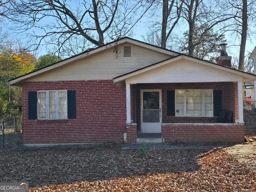
[[[10,149],[22,145],[21,131],[21,117],[2,118],[0,132],[1,147]]]

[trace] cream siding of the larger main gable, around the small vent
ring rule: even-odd
[[[129,73],[155,62],[171,58],[169,55],[132,45],[132,57],[123,57],[123,46],[118,45],[116,58],[115,48],[99,54],[92,55],[86,59],[75,61],[61,68],[49,71],[28,79],[34,81],[74,81],[92,79],[112,79],[116,76]]]

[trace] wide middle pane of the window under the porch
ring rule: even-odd
[[[189,90],[186,97],[187,116],[202,116],[202,91]]]

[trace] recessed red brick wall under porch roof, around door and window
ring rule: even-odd
[[[222,90],[222,108],[234,112],[235,118],[238,118],[237,113],[237,85],[232,82],[223,83],[169,83],[169,84],[136,84],[135,85],[135,106],[137,128],[140,130],[140,90],[141,89],[161,89],[162,90],[162,122],[163,123],[182,123],[182,122],[209,122],[212,117],[174,117],[167,115],[167,90],[175,89],[213,89]]]

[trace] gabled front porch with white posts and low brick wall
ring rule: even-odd
[[[249,77],[180,55],[115,78],[126,84],[126,142],[242,142]]]

